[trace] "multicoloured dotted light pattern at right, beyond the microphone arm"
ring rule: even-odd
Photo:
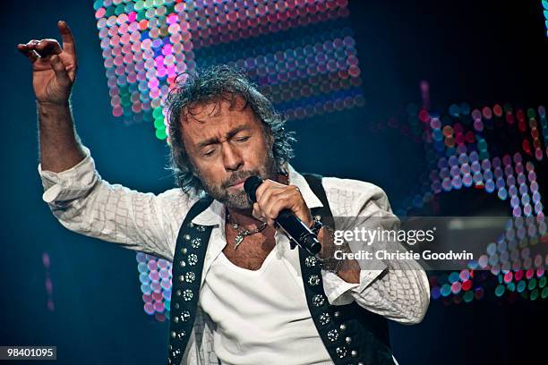
[[[518,295],[530,300],[545,299],[548,255],[532,257],[530,250],[537,244],[548,244],[535,173],[535,161],[540,163],[548,157],[544,106],[514,110],[510,105],[495,105],[471,110],[467,104],[461,104],[450,106],[448,115],[442,117],[409,106],[407,115],[403,123],[391,118],[388,125],[400,128],[415,142],[424,143],[429,170],[421,176],[422,184],[415,194],[396,210],[399,216],[422,208],[436,194],[466,188],[496,193],[499,199],[509,202],[513,216],[498,241],[490,243],[469,269],[430,277],[432,298],[441,298],[445,303],[480,300],[489,286],[497,297],[508,293],[510,300]],[[493,152],[511,146],[490,146],[490,133],[502,140],[513,136],[517,151],[492,157]],[[492,276],[497,278],[494,286],[489,280]]]

